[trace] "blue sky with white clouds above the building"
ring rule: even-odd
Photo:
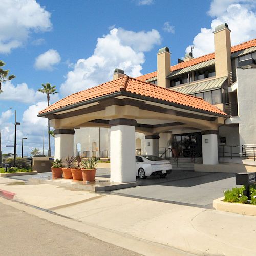
[[[56,85],[54,103],[110,80],[116,67],[135,77],[155,71],[163,46],[172,52],[172,65],[191,45],[196,57],[210,53],[212,29],[223,22],[232,45],[256,37],[254,0],[2,1],[0,59],[16,75],[0,95],[4,153],[13,144],[13,109],[22,122],[18,153],[22,137],[28,150],[42,148],[47,122],[36,117],[46,105],[46,96],[36,93],[41,83]]]

